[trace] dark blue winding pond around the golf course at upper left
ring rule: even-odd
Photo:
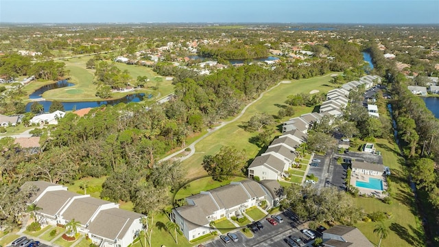
[[[58,82],[40,87],[34,93],[29,95],[29,99],[40,99],[41,95],[45,91],[49,91],[52,89],[60,89],[63,87],[74,86],[74,85],[75,84],[70,83],[67,80],[59,80]],[[75,108],[76,110],[80,110],[82,108],[89,108],[89,107],[94,108],[107,104],[110,106],[114,106],[119,103],[141,102],[144,97],[150,99],[152,95],[151,94],[145,95],[145,93],[134,93],[132,95],[126,95],[125,97],[121,97],[120,99],[102,100],[102,101],[93,101],[93,102],[61,102],[61,103],[64,106],[64,110],[72,110],[73,108]],[[33,102],[27,103],[26,105],[27,113],[30,111],[30,106],[32,105],[32,103]],[[49,108],[52,104],[52,102],[49,100],[38,101],[38,103],[44,106],[45,112],[49,111]]]

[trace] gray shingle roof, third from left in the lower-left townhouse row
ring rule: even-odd
[[[66,211],[62,213],[62,217],[64,220],[75,219],[85,225],[91,219],[93,214],[96,213],[97,209],[104,204],[114,203],[92,197],[75,198]],[[116,207],[115,204],[114,206]]]

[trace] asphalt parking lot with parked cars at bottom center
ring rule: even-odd
[[[230,242],[224,243],[219,237],[208,244],[205,244],[206,247],[226,247],[226,246],[258,246],[258,247],[269,247],[269,246],[288,246],[285,243],[284,239],[287,239],[289,235],[296,235],[304,240],[306,243],[305,246],[311,246],[311,239],[303,235],[299,229],[297,228],[300,225],[300,222],[297,220],[293,220],[288,213],[281,213],[281,217],[283,218],[283,223],[277,224],[276,226],[272,226],[267,220],[261,220],[261,224],[263,225],[263,229],[253,233],[252,238],[247,238],[244,236],[241,231],[235,232],[238,236],[238,242]],[[316,237],[320,237],[321,235],[317,232],[313,232],[316,234]]]

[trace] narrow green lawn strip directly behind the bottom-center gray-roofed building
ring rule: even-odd
[[[198,178],[196,180],[191,181],[191,183],[188,183],[187,186],[178,190],[174,199],[179,200],[181,198],[186,198],[188,196],[193,196],[195,194],[198,194],[198,193],[200,193],[200,191],[208,191],[211,189],[215,189],[217,187],[221,187],[223,185],[228,185],[232,181],[237,182],[237,181],[241,181],[244,179],[246,179],[246,178],[242,178],[242,177],[238,177],[238,176],[230,176],[228,178],[228,180],[223,180],[223,181],[219,182],[219,181],[213,180],[211,176],[207,176],[204,178]]]

